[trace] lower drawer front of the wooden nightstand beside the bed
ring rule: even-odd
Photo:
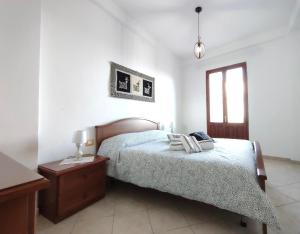
[[[58,201],[58,215],[66,216],[73,211],[80,209],[81,207],[89,204],[92,201],[96,201],[104,196],[104,189],[101,188],[101,184],[91,187],[89,189],[82,189],[77,191],[71,191],[68,194],[64,194]]]

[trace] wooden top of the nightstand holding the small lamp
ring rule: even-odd
[[[55,175],[60,175],[60,174],[68,173],[70,171],[90,167],[95,164],[105,163],[107,160],[109,160],[109,158],[107,157],[98,156],[98,155],[88,155],[88,156],[95,156],[94,161],[89,163],[74,163],[74,164],[60,165],[62,160],[59,160],[55,162],[41,164],[39,165],[39,170],[47,171]]]

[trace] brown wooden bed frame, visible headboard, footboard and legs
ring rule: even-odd
[[[143,118],[127,118],[127,119],[120,119],[105,125],[95,126],[95,129],[96,129],[96,150],[98,152],[98,149],[102,141],[104,141],[109,137],[113,137],[123,133],[158,130],[159,123],[148,119],[143,119]],[[252,142],[252,145],[256,157],[257,180],[261,189],[265,191],[265,181],[267,180],[267,175],[265,171],[261,147],[258,141]],[[243,220],[243,217],[241,218],[241,226],[243,227],[247,226],[246,222]],[[262,232],[263,234],[267,234],[266,224],[262,224]]]

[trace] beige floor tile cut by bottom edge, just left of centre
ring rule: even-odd
[[[147,211],[119,215],[114,218],[113,234],[152,234]]]

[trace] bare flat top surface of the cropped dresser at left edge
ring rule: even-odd
[[[0,153],[0,192],[44,177]]]

